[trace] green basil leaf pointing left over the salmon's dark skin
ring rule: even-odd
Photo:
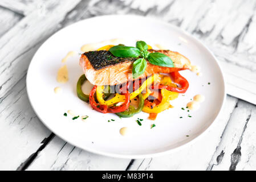
[[[117,57],[138,57],[140,50],[136,47],[114,46],[109,49],[112,55]]]

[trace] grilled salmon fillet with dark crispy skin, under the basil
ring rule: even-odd
[[[149,49],[148,52],[160,52],[169,56],[173,61],[174,68],[160,67],[147,61],[147,68],[144,74],[140,75],[138,78],[144,78],[154,73],[170,73],[191,69],[189,59],[178,52],[154,49]],[[123,84],[129,80],[134,80],[132,78],[132,64],[135,60],[137,60],[137,58],[113,56],[109,51],[90,51],[82,54],[79,64],[91,84],[117,85]]]

